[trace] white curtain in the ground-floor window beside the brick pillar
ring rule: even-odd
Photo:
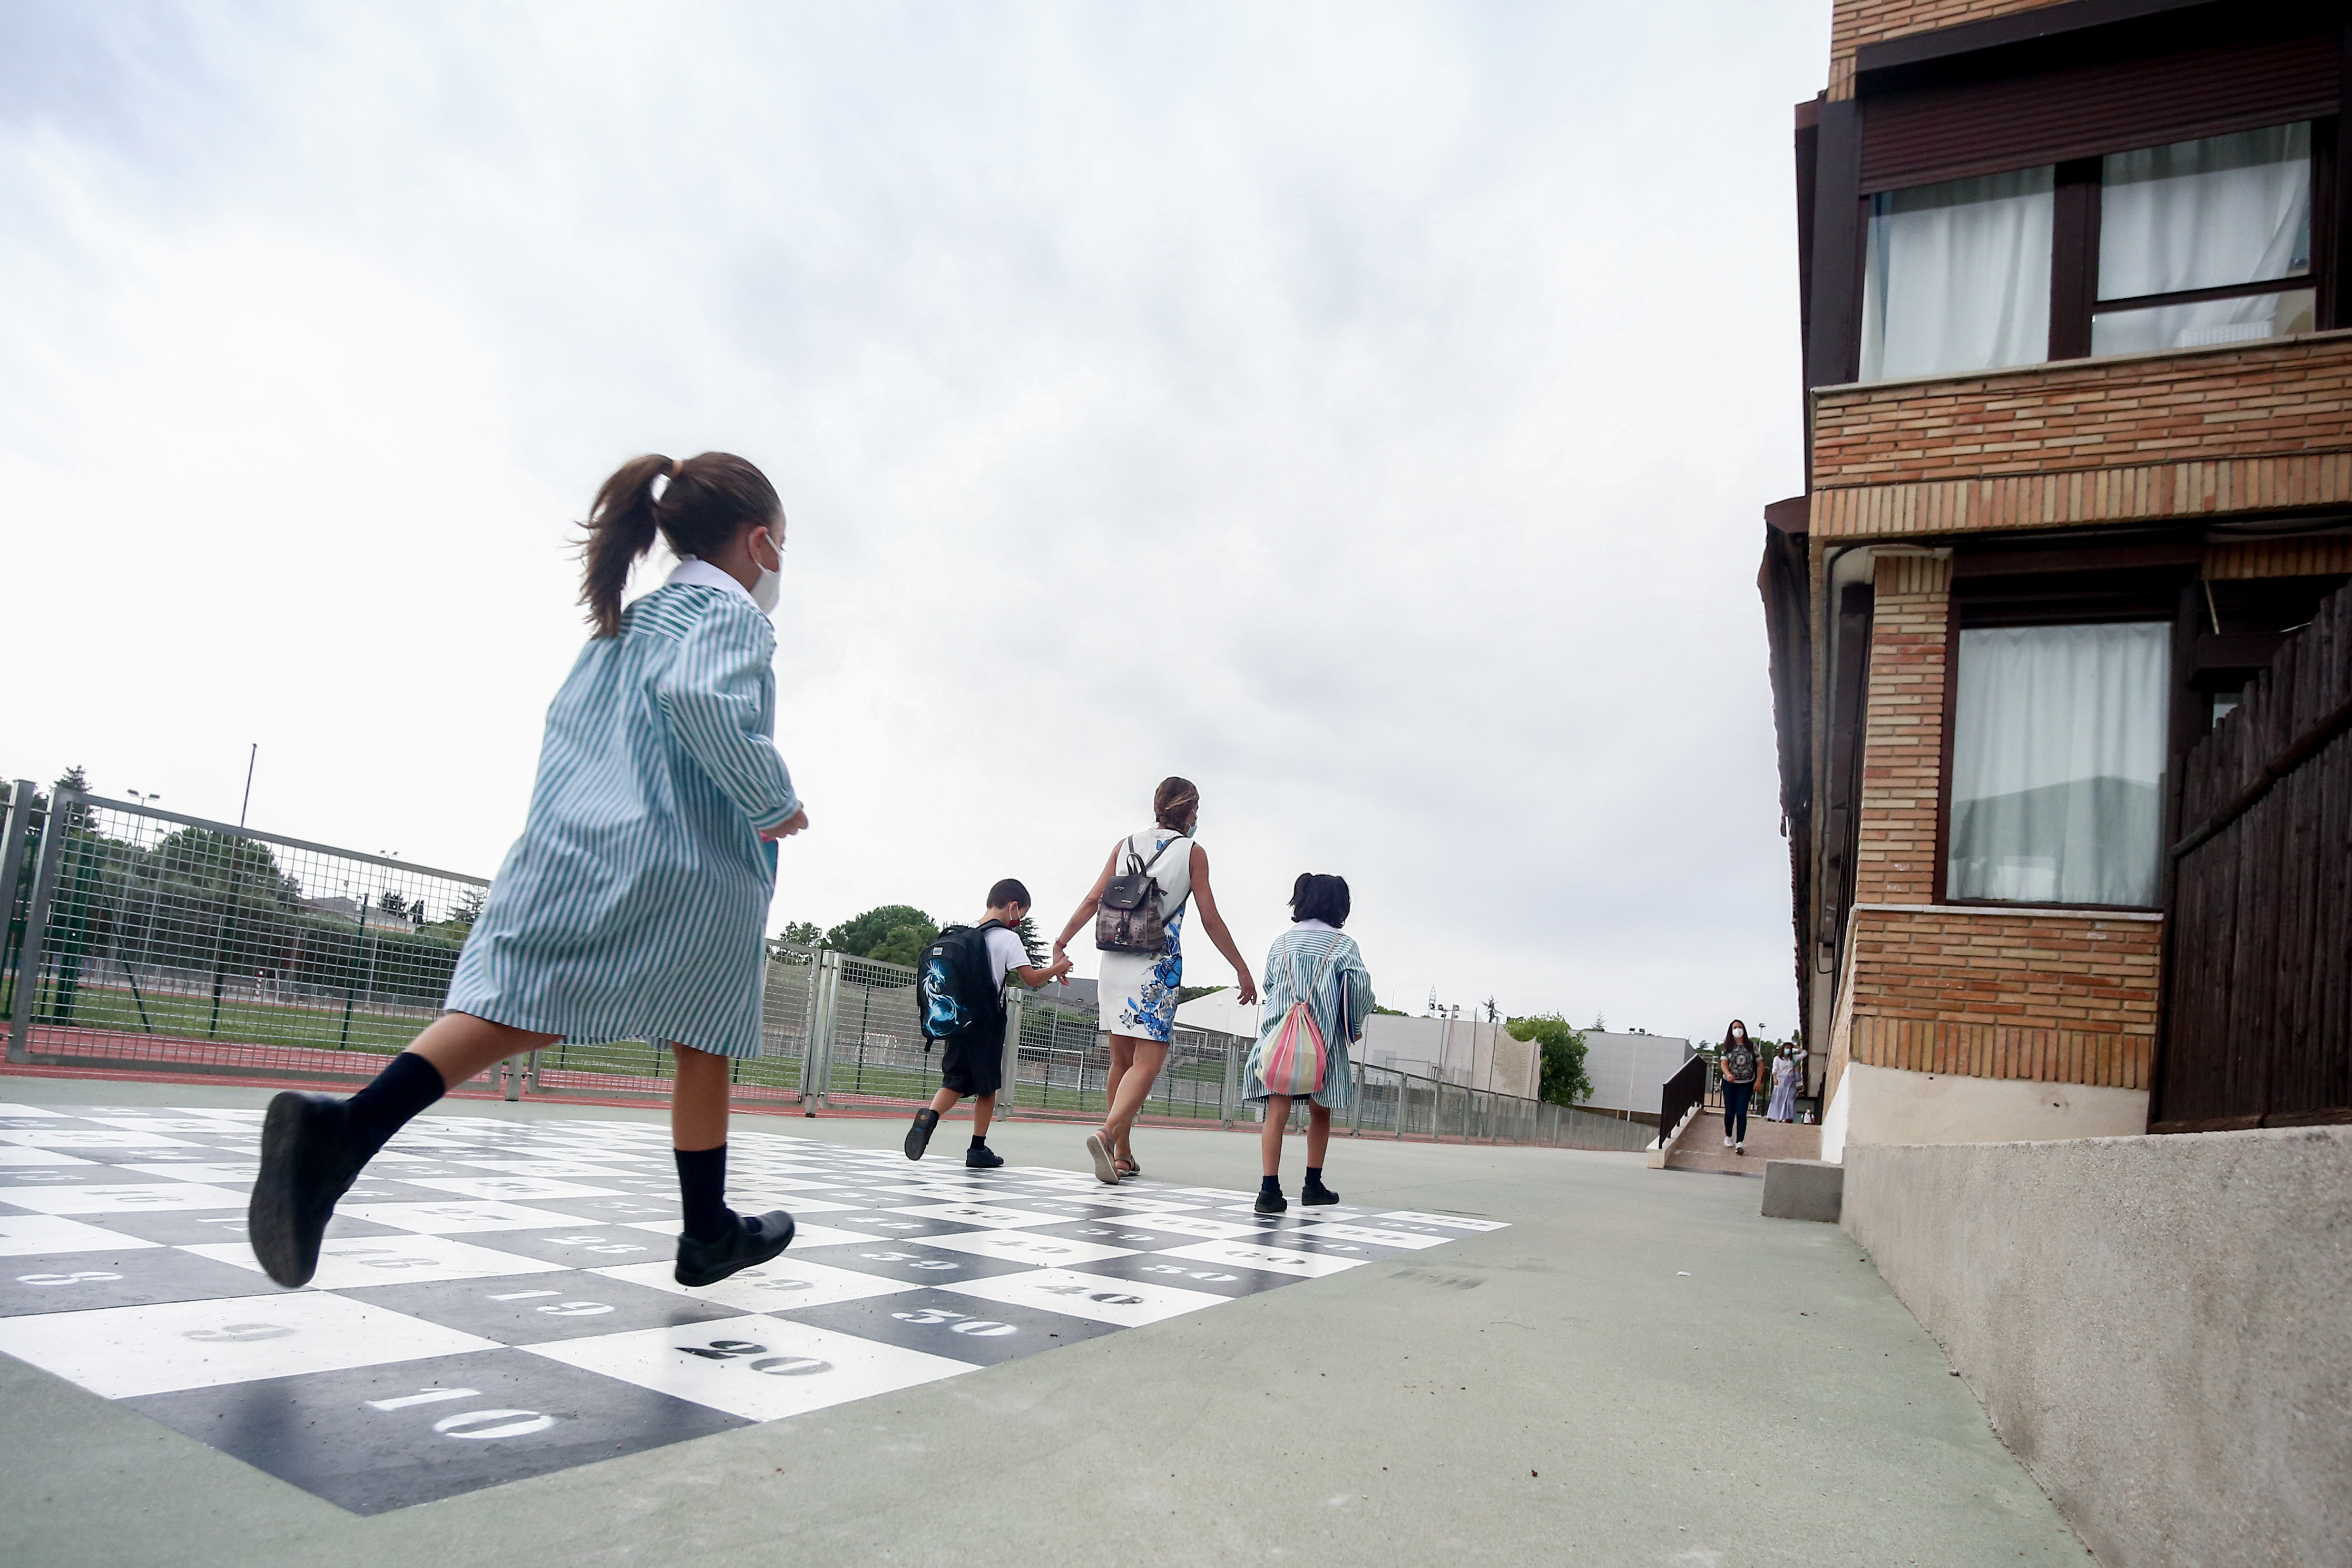
[[[1952,898],[2157,900],[2171,625],[1959,635]]]

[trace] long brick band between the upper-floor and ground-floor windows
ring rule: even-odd
[[[1813,400],[1816,489],[2347,449],[2347,331]]]

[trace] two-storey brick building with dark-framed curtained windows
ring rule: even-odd
[[[1759,578],[1830,1159],[2150,1126],[2183,757],[2352,574],[2347,42],[1835,5]]]

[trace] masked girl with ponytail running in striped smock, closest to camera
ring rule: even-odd
[[[623,611],[656,536],[680,567]],[[809,825],[774,743],[783,503],[739,456],[642,456],[597,491],[581,559],[595,635],[548,705],[532,809],[447,1011],[348,1100],[289,1091],[261,1121],[247,1232],[280,1286],[318,1272],[336,1199],[393,1133],[557,1039],[670,1048],[677,1284],[717,1284],[793,1241],[781,1208],[727,1208],[727,1063],[760,1053],[776,839]]]

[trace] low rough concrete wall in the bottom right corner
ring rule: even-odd
[[[1844,1227],[2103,1568],[2345,1561],[2352,1126],[1849,1143]]]

